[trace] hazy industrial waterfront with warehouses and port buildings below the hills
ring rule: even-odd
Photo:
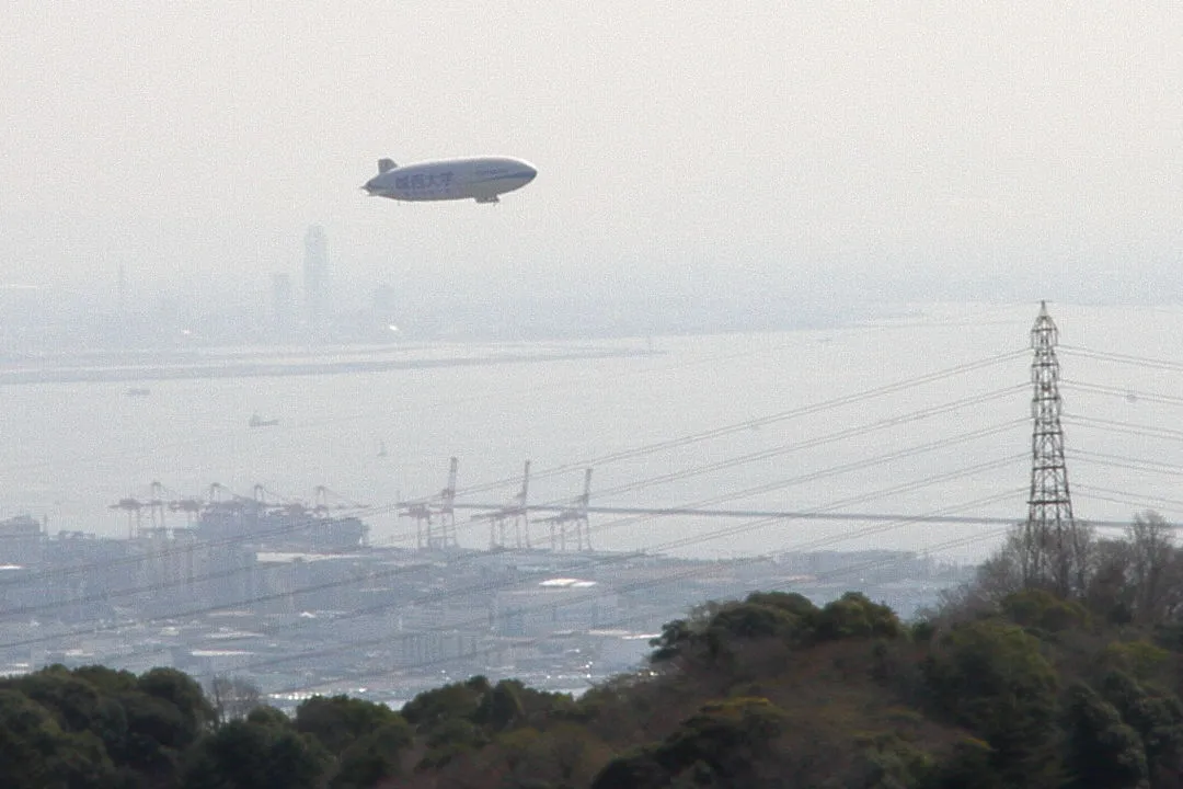
[[[678,560],[581,549],[574,533],[571,550],[373,547],[338,509],[218,489],[119,505],[140,516],[124,538],[0,523],[0,674],[174,666],[279,706],[330,691],[397,704],[473,674],[578,692],[640,666],[689,601],[860,589],[906,614],[968,571],[903,551]],[[164,511],[181,525],[154,525]]]

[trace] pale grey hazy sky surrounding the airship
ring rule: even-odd
[[[1177,1],[8,0],[0,282],[261,289],[316,222],[425,295],[1178,290],[1181,44]],[[479,153],[539,175],[358,189]]]

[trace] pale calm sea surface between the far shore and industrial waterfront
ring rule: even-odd
[[[128,516],[110,505],[148,499],[153,480],[170,497],[220,483],[305,502],[323,485],[367,505],[375,543],[409,544],[395,503],[438,492],[457,455],[460,502],[509,502],[530,459],[534,503],[570,499],[592,465],[599,505],[1021,519],[1036,311],[930,305],[848,329],[569,347],[655,351],[603,358],[0,386],[0,518],[27,512],[51,531],[125,535]],[[1155,509],[1183,520],[1183,311],[1052,312],[1078,516]],[[128,396],[129,387],[150,394]],[[250,428],[252,414],[279,423]],[[461,543],[486,545],[487,526],[467,517]],[[592,526],[596,548],[691,556],[878,547],[971,557],[1001,529],[613,516]],[[544,536],[538,526],[536,542]]]

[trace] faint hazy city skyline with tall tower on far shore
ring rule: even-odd
[[[310,226],[319,228],[321,226]],[[312,341],[309,285],[319,283],[324,343],[389,343],[416,339],[512,341],[547,338],[644,337],[726,334],[841,326],[890,315],[913,290],[814,283],[796,296],[737,286],[733,292],[698,290],[659,293],[647,290],[615,297],[601,292],[556,291],[551,295],[491,290],[425,291],[413,283],[350,279],[348,272],[327,285],[330,240],[323,228],[306,229],[310,257],[286,271],[202,284],[164,283],[154,290],[128,277],[122,267],[89,286],[37,286],[0,283],[0,353],[30,350],[190,348],[239,344],[293,344]],[[322,248],[323,247],[323,248]],[[323,253],[323,257],[318,257]],[[914,280],[913,280],[914,282]],[[296,283],[299,283],[298,285]],[[1183,283],[1181,283],[1183,284]],[[955,290],[933,302],[1037,304],[1172,305],[1183,287],[1143,289],[1125,297],[1068,302],[1055,293],[1008,292],[994,299],[958,299]],[[1009,297],[1007,297],[1009,296]]]

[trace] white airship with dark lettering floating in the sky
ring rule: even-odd
[[[362,188],[374,198],[407,200],[476,200],[500,202],[497,195],[521,189],[538,175],[532,164],[508,156],[476,156],[418,162],[399,167],[377,160],[377,175]]]

